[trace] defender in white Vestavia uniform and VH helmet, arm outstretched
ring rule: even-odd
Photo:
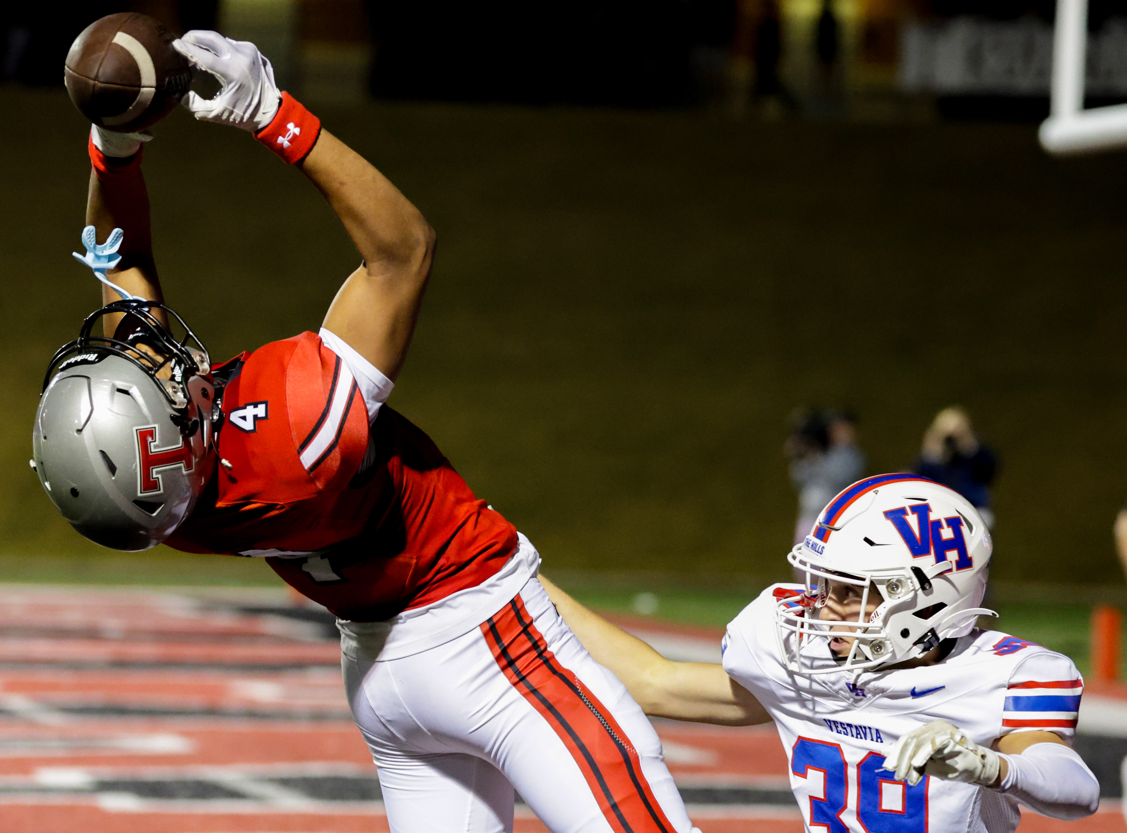
[[[808,831],[1012,833],[1019,804],[1095,812],[1072,751],[1083,680],[1072,661],[975,627],[992,544],[960,495],[913,475],[838,494],[777,584],[734,619],[724,665],[674,663],[549,593],[648,714],[774,720]]]

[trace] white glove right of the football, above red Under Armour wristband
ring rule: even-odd
[[[172,47],[193,66],[219,79],[221,89],[215,98],[201,98],[189,90],[180,99],[196,118],[257,133],[278,111],[282,96],[274,82],[274,68],[252,43],[193,29],[174,41]]]

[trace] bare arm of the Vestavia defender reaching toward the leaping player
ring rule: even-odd
[[[641,639],[592,612],[543,575],[549,598],[596,662],[613,671],[647,715],[751,726],[771,717],[752,693],[709,662],[666,660]]]

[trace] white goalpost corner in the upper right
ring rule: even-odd
[[[1084,109],[1086,52],[1088,0],[1057,0],[1051,107],[1038,131],[1049,153],[1127,146],[1127,105]]]

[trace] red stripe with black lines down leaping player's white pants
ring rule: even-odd
[[[610,711],[548,650],[521,597],[481,630],[513,687],[559,735],[616,833],[675,833]]]

